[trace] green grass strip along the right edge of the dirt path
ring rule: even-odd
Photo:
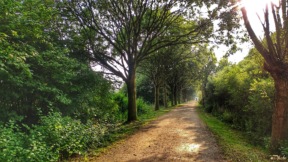
[[[230,161],[270,161],[268,149],[249,143],[244,132],[230,128],[211,114],[205,113],[201,107],[198,104],[198,115],[215,135],[225,158]]]

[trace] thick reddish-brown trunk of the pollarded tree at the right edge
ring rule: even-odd
[[[288,138],[288,79],[281,74],[273,75],[275,94],[273,96],[272,134],[270,142],[271,155],[281,155],[279,141]],[[281,77],[280,77],[281,75]]]

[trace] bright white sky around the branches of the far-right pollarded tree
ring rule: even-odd
[[[244,5],[247,10],[247,16],[249,22],[258,38],[260,39],[263,38],[264,31],[257,14],[259,15],[261,21],[264,22],[263,8],[265,8],[266,3],[268,3],[268,9],[269,9],[270,28],[272,29],[272,31],[275,31],[274,29],[275,24],[271,13],[270,0],[242,0],[242,1],[243,1],[242,5]],[[272,0],[272,2],[278,4],[278,0]],[[246,28],[244,26],[244,20],[241,20],[240,23],[242,24],[243,30],[246,31]],[[239,61],[243,60],[245,56],[248,55],[249,49],[253,47],[252,41],[246,43],[238,43],[237,46],[242,48],[242,52],[238,51],[234,55],[229,56],[228,61],[238,63]],[[223,57],[223,54],[225,54],[226,51],[228,51],[228,47],[226,47],[225,45],[220,45],[218,49],[217,48],[214,49],[218,61],[221,59],[221,57]]]

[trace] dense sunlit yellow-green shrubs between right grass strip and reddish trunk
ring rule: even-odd
[[[246,131],[251,140],[271,134],[273,80],[253,60],[226,66],[209,77],[206,112],[236,129]]]

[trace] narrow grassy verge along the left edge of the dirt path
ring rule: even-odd
[[[160,107],[160,110],[158,111],[152,110],[147,114],[139,115],[139,121],[135,121],[132,123],[121,123],[118,126],[120,129],[118,131],[112,132],[112,135],[107,139],[107,141],[101,144],[101,147],[92,148],[90,149],[90,153],[88,153],[88,155],[72,157],[66,160],[66,162],[93,161],[93,159],[101,156],[101,154],[109,152],[111,148],[115,148],[118,146],[118,144],[123,143],[124,140],[126,140],[131,134],[134,134],[144,125],[149,124],[151,121],[156,120],[164,113],[167,113],[181,105],[183,104],[178,104],[177,106],[168,108]]]

